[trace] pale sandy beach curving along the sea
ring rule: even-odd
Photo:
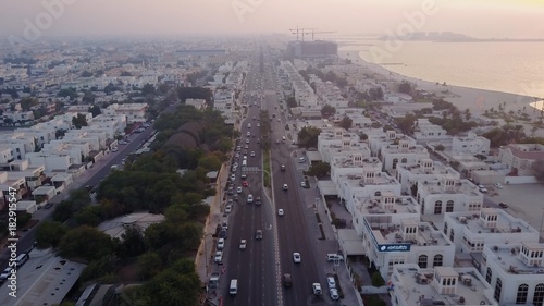
[[[527,112],[530,118],[536,119],[540,117],[540,111],[535,110],[530,106],[536,99],[534,97],[478,89],[468,88],[453,85],[436,84],[433,82],[418,79],[405,75],[400,75],[395,72],[391,72],[385,68],[369,63],[359,56],[358,51],[338,51],[338,57],[343,59],[351,60],[351,63],[359,64],[367,69],[369,72],[383,75],[384,78],[393,79],[396,82],[407,81],[409,83],[416,84],[418,88],[426,90],[429,93],[434,93],[437,96],[444,98],[444,100],[449,101],[457,106],[459,110],[470,109],[473,115],[482,114],[485,110],[494,108],[498,110],[498,106],[506,102],[506,112],[512,110],[517,112],[518,110]],[[542,102],[539,101],[539,106]]]

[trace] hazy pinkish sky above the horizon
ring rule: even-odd
[[[47,3],[59,13],[49,13]],[[544,0],[0,0],[0,36],[36,29],[41,37],[289,34],[296,26],[382,35],[408,25],[481,38],[544,38],[543,16]]]

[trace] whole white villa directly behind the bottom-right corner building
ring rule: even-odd
[[[483,252],[484,245],[539,242],[539,231],[502,209],[454,212],[444,216],[443,232],[456,245],[457,253]]]

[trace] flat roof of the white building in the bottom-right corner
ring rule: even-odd
[[[539,278],[544,279],[544,267],[527,265],[519,258],[519,249],[521,245],[531,249],[542,250],[544,244],[535,242],[524,242],[521,244],[510,244],[510,245],[498,245],[490,246],[489,250],[495,255],[494,259],[487,256],[487,260],[493,260],[506,273],[509,274],[534,274]]]

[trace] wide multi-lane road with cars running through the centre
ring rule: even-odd
[[[287,119],[280,110],[276,90],[277,77],[272,69],[272,60],[264,52],[264,71],[261,73],[259,61],[251,64],[246,77],[243,105],[247,107],[246,115],[240,122],[242,164],[244,146],[248,144],[248,163],[251,170],[247,173],[248,187],[243,188],[239,203],[228,216],[228,238],[224,252],[223,265],[217,265],[217,270],[225,272],[221,294],[224,305],[325,305],[333,304],[327,296],[325,276],[318,269],[319,258],[316,258],[317,236],[312,235],[308,224],[316,218],[311,205],[302,200],[300,181],[301,171],[297,169],[294,147],[280,142],[285,136],[284,126]],[[251,95],[252,94],[252,95]],[[260,95],[259,95],[260,94]],[[261,110],[268,110],[271,118],[271,174],[272,197],[269,198],[262,187],[262,151],[257,139],[260,138],[260,127],[257,127]],[[273,117],[274,114],[274,117]],[[254,120],[254,117],[256,120]],[[251,127],[248,127],[248,123]],[[247,136],[247,132],[250,136]],[[256,156],[250,157],[255,151]],[[281,166],[285,164],[285,171]],[[235,174],[235,187],[242,185],[242,170],[238,167]],[[259,171],[255,171],[259,169]],[[283,185],[288,189],[284,191]],[[236,189],[236,188],[234,188]],[[262,198],[262,205],[247,204],[246,197],[251,193]],[[279,216],[279,209],[284,215]],[[257,230],[263,231],[263,238],[256,240]],[[239,249],[242,238],[248,241],[246,249]],[[294,262],[293,254],[301,255],[301,262]],[[283,287],[281,278],[284,273],[292,274],[293,286]],[[232,279],[238,281],[238,293],[228,294]],[[313,295],[311,284],[320,282],[323,295]]]

